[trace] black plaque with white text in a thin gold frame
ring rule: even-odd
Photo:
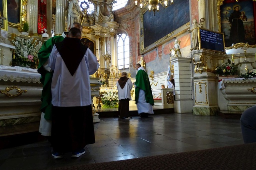
[[[225,52],[224,34],[198,27],[199,49]]]

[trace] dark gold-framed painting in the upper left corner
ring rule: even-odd
[[[7,0],[8,22],[20,23],[20,6],[22,0]]]

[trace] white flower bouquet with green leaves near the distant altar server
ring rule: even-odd
[[[115,108],[118,107],[118,95],[116,92],[108,91],[101,97],[102,108]]]

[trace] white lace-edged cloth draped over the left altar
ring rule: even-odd
[[[0,65],[0,80],[3,81],[16,81],[16,82],[33,82],[40,83],[41,75],[37,69],[19,67],[19,66],[4,66]]]

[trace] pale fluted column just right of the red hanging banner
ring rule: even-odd
[[[56,0],[56,26],[55,35],[61,35],[65,30],[65,8],[66,1]]]

